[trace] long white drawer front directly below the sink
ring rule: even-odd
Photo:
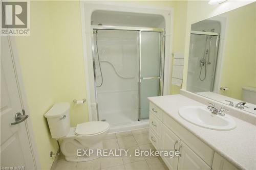
[[[211,167],[214,150],[165,113],[163,114],[163,123]]]

